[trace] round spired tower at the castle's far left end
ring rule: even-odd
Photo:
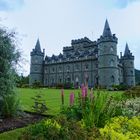
[[[30,53],[31,56],[31,65],[30,65],[30,76],[29,76],[29,85],[32,85],[34,82],[43,83],[43,61],[44,61],[44,52],[41,51],[39,39],[35,45],[35,49]]]

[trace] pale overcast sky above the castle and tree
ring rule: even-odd
[[[18,32],[19,47],[28,60],[24,75],[29,74],[37,38],[47,55],[57,55],[72,39],[97,40],[106,18],[118,37],[118,55],[127,42],[140,69],[140,0],[0,0],[0,26]]]

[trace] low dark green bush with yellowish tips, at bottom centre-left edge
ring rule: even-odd
[[[80,122],[67,121],[64,116],[48,119],[27,128],[22,140],[85,140],[86,131]]]

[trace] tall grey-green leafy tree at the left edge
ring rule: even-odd
[[[16,49],[15,32],[0,28],[0,115],[4,117],[12,116],[15,112],[13,106],[17,107],[14,103],[10,103],[15,102],[15,99],[9,99],[15,98],[15,67],[19,59],[20,52]]]

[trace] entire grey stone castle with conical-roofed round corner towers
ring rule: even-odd
[[[118,39],[111,33],[106,20],[103,34],[97,41],[87,37],[72,40],[71,46],[63,48],[63,54],[51,57],[41,51],[39,40],[31,52],[30,80],[44,86],[88,83],[110,87],[112,85],[135,85],[134,56],[126,44],[124,54],[117,55]]]

